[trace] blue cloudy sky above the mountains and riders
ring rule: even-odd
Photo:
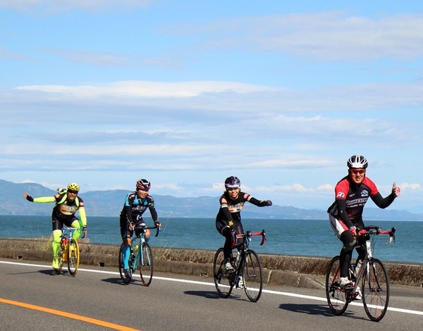
[[[326,210],[362,154],[422,213],[423,2],[397,2],[0,0],[0,179],[217,197],[235,175]]]

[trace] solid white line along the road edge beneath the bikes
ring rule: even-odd
[[[14,264],[14,265],[17,265],[17,266],[51,268],[51,266],[46,266],[46,265],[43,265],[43,264],[30,264],[30,263],[9,262],[9,261],[0,261],[0,263]],[[105,273],[105,274],[109,274],[109,275],[119,275],[119,273],[116,272],[116,271],[92,270],[92,269],[78,268],[78,272],[79,271],[86,271],[87,273]],[[139,275],[136,275],[136,274],[135,274],[135,276],[140,277]],[[178,279],[178,278],[157,277],[157,276],[153,276],[153,277],[154,277],[154,280],[168,280],[170,282],[186,282],[186,283],[190,283],[190,284],[206,285],[206,286],[214,287],[213,282],[199,282],[197,280],[181,280],[181,279]],[[310,300],[315,300],[315,301],[326,301],[326,298],[320,298],[319,296],[311,296],[311,295],[295,294],[295,293],[289,293],[289,292],[272,291],[271,289],[263,289],[263,292],[269,293],[269,294],[275,294],[275,295],[294,296],[295,298],[310,299]],[[363,306],[359,302],[351,302],[350,305]],[[388,311],[398,311],[399,313],[409,313],[409,314],[415,314],[415,315],[422,315],[423,316],[423,311],[412,311],[410,309],[388,307]]]

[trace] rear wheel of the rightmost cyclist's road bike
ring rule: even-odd
[[[326,299],[328,300],[329,308],[336,316],[342,315],[348,307],[347,295],[339,287],[340,273],[339,256],[335,256],[329,263],[329,268],[326,272]]]

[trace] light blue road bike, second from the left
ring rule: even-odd
[[[122,246],[119,249],[119,273],[124,284],[128,284],[133,279],[135,270],[140,270],[142,285],[149,286],[153,279],[154,256],[152,247],[145,241],[145,232],[147,229],[157,229],[155,237],[159,235],[160,227],[148,227],[141,225],[134,229],[134,235],[131,238],[130,257],[129,257],[129,274],[125,276],[123,268]]]

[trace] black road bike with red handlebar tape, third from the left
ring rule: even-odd
[[[231,264],[233,270],[226,270],[223,257],[223,248],[219,248],[214,254],[213,276],[217,293],[222,298],[231,295],[233,287],[244,289],[250,301],[256,302],[260,299],[263,289],[263,271],[259,256],[248,246],[253,236],[262,236],[262,246],[266,241],[266,232],[247,231],[240,235],[242,242],[234,248],[238,249],[236,256],[231,252]]]

